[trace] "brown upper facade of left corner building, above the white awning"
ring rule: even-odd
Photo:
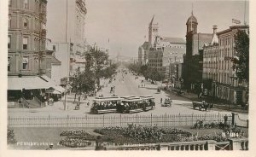
[[[9,0],[9,76],[45,73],[46,6],[46,0]]]

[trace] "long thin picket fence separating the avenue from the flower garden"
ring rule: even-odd
[[[12,117],[8,118],[9,127],[108,127],[134,125],[157,125],[160,127],[192,126],[197,120],[206,123],[224,123],[226,114],[164,114],[164,115],[84,115],[84,116],[44,116],[44,117]],[[229,114],[227,123],[232,124]]]

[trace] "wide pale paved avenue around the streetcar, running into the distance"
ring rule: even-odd
[[[128,71],[128,70],[126,70]],[[192,108],[192,102],[189,101],[187,98],[184,98],[182,96],[176,96],[175,94],[171,94],[171,96],[168,96],[164,91],[162,91],[160,94],[157,94],[156,90],[161,84],[150,84],[148,81],[143,81],[143,84],[145,84],[145,87],[142,87],[141,81],[143,80],[143,77],[136,78],[135,75],[132,73],[117,73],[115,76],[115,80],[113,79],[112,83],[108,83],[108,80],[103,80],[102,85],[105,87],[97,93],[97,96],[103,95],[103,96],[111,96],[110,88],[112,86],[115,86],[115,92],[114,94],[117,96],[154,96],[155,102],[156,102],[156,108],[154,110],[150,110],[148,112],[142,112],[137,113],[140,115],[162,115],[162,114],[211,114],[211,113],[230,113],[227,111],[221,111],[217,109],[213,109],[213,111],[199,111]],[[140,86],[140,87],[138,87]],[[47,106],[44,108],[9,108],[9,116],[67,116],[73,115],[73,116],[82,116],[84,114],[89,114],[90,107],[86,106],[86,102],[90,101],[90,104],[92,102],[92,99],[94,97],[89,97],[89,100],[83,100],[81,98],[82,103],[80,106],[80,110],[74,110],[75,105],[73,104],[73,95],[67,96],[67,104],[68,109],[66,111],[63,110],[63,101],[64,98],[60,102],[55,102],[53,106]],[[163,100],[166,97],[172,98],[172,107],[161,107],[160,106],[160,98],[163,98]],[[113,115],[117,113],[108,113],[105,115]],[[132,113],[131,113],[132,114]],[[97,115],[91,115],[91,116],[97,116]],[[247,114],[240,113],[240,117],[242,119],[247,119]]]

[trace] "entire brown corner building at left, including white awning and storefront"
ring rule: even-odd
[[[18,105],[44,102],[52,85],[42,78],[47,68],[46,7],[46,0],[9,0],[8,101]]]

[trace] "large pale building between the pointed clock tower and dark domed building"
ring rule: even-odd
[[[177,64],[183,63],[186,43],[183,38],[156,36],[154,47],[149,50],[148,66],[156,68],[166,78],[177,78]]]

